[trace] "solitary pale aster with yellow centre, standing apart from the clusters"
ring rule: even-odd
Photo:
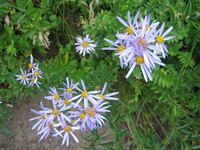
[[[93,44],[93,40],[89,38],[89,35],[87,34],[85,38],[81,38],[80,36],[76,38],[77,43],[76,45],[76,51],[79,52],[80,55],[85,56],[85,54],[89,54],[92,51],[95,51],[96,44]]]

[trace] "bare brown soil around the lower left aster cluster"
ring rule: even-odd
[[[32,131],[32,125],[34,122],[29,122],[29,119],[34,117],[35,114],[30,109],[38,110],[40,101],[44,100],[40,98],[20,100],[20,102],[11,110],[15,115],[13,119],[7,122],[7,128],[12,131],[12,134],[0,135],[0,150],[82,150],[83,146],[87,146],[89,143],[83,140],[84,135],[87,132],[77,132],[76,135],[79,138],[80,143],[76,144],[72,140],[69,147],[61,146],[62,139],[48,137],[48,139],[38,142],[39,137],[36,135],[36,131]],[[45,104],[48,107],[49,104]],[[100,129],[102,134],[108,131],[108,127]],[[108,139],[111,139],[110,136]],[[98,150],[104,148],[99,147]]]

